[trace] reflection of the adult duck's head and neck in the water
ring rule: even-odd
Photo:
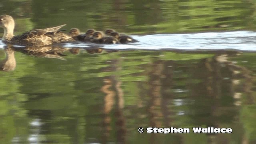
[[[12,50],[11,48],[5,48],[4,51],[6,53],[6,58],[2,62],[0,62],[0,70],[6,72],[15,70],[16,60],[14,57],[14,50]]]

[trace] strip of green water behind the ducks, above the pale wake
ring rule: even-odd
[[[21,32],[60,24],[67,30],[133,34],[256,29],[253,0],[1,0],[0,5]]]

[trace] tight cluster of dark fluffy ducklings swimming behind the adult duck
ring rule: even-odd
[[[97,44],[128,44],[131,42],[138,42],[138,40],[135,40],[126,34],[120,34],[112,29],[108,29],[105,32],[88,29],[85,34],[81,34],[78,28],[72,28],[68,35],[81,42],[92,42]]]

